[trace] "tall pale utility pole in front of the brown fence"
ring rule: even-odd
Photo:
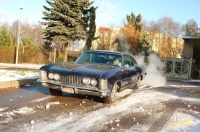
[[[19,45],[20,45],[20,40],[21,40],[21,20],[22,20],[22,11],[23,7],[22,5],[19,7],[20,10],[20,17],[18,21],[18,34],[17,34],[17,47],[16,47],[16,56],[15,56],[15,64],[18,64],[18,59],[19,59]]]

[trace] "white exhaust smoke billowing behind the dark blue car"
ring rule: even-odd
[[[127,42],[127,38],[120,34],[119,35],[120,40],[120,47],[122,52],[130,53],[129,44]],[[143,81],[141,81],[141,84],[148,85],[148,86],[165,86],[166,84],[166,77],[164,76],[164,64],[159,59],[159,57],[156,54],[149,54],[147,58],[145,58],[144,53],[140,53],[138,55],[133,55],[138,62],[139,66],[141,66],[144,71],[147,73]],[[145,60],[148,60],[148,63],[145,63]]]

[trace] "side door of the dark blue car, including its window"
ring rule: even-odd
[[[137,81],[136,61],[130,55],[124,55],[124,70],[126,71],[127,85],[132,85]]]

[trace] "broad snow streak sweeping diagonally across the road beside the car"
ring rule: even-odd
[[[145,104],[157,104],[159,102],[169,101],[171,99],[180,99],[180,97],[153,90],[139,91],[138,93],[131,94],[129,97],[122,99],[111,106],[106,106],[98,109],[97,111],[83,114],[68,113],[58,117],[53,122],[41,121],[40,123],[35,124],[34,127],[28,129],[28,131],[57,131],[57,129],[59,129],[59,131],[66,131],[66,129],[68,131],[88,131],[93,127],[98,129],[98,126],[108,123],[111,120],[119,119],[123,114],[127,114],[127,111],[145,112],[145,109],[142,107]],[[190,102],[198,101],[198,99],[194,98],[182,99]],[[142,106],[138,105],[141,103]],[[146,128],[148,127],[150,126],[147,126]]]

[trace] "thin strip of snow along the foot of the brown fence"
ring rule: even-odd
[[[0,63],[0,67],[6,67],[6,68],[27,68],[27,69],[40,69],[44,64],[6,64],[6,63]]]

